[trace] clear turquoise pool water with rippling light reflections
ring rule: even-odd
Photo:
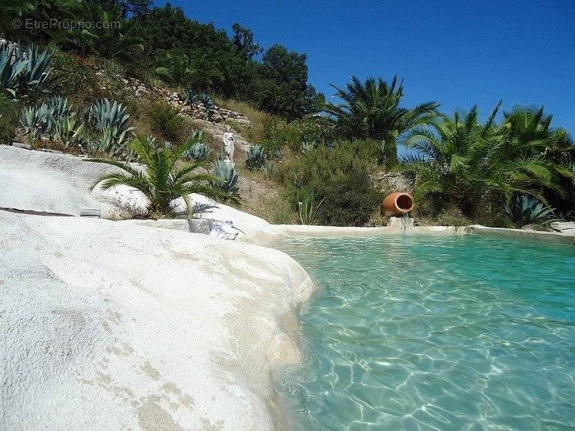
[[[575,430],[575,247],[295,239],[320,291],[275,376],[301,430]]]

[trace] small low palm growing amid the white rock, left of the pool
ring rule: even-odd
[[[160,215],[172,214],[174,200],[182,198],[188,208],[188,215],[191,216],[192,193],[203,194],[212,199],[238,202],[237,197],[208,184],[208,181],[221,181],[221,178],[203,172],[197,173],[200,167],[206,167],[206,163],[178,162],[183,153],[197,142],[197,139],[190,139],[183,145],[174,147],[168,143],[163,146],[157,145],[155,138],[152,137],[135,138],[128,146],[138,156],[143,166],[108,158],[91,158],[89,159],[91,162],[106,163],[120,169],[120,172],[100,176],[92,188],[100,185],[102,190],[108,190],[120,184],[134,187],[147,197],[149,212]]]

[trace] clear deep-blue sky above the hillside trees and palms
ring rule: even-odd
[[[156,4],[165,2],[156,1]],[[308,55],[309,81],[329,97],[351,75],[405,78],[405,106],[453,112],[498,100],[545,105],[575,134],[575,0],[172,1],[231,33],[239,22],[264,48]]]

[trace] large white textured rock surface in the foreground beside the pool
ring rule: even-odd
[[[312,291],[284,253],[1,211],[0,248],[0,429],[284,428],[269,372]]]

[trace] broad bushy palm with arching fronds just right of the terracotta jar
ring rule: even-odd
[[[550,185],[550,166],[544,158],[511,156],[511,125],[495,122],[500,104],[484,124],[473,107],[453,117],[440,115],[429,127],[406,134],[405,146],[414,151],[401,158],[399,170],[414,178],[414,199],[434,194],[473,216],[477,201],[500,205],[515,194],[536,195],[540,185]]]

